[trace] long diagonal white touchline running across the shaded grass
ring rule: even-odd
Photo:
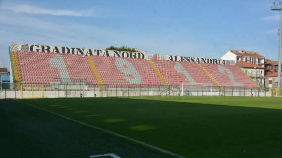
[[[46,112],[51,113],[51,114],[53,114],[53,115],[59,116],[59,117],[61,117],[61,118],[65,118],[65,119],[68,119],[68,120],[77,122],[77,123],[79,123],[79,124],[83,124],[83,125],[86,125],[86,126],[88,126],[88,127],[91,127],[91,128],[94,128],[94,129],[97,129],[97,130],[100,130],[100,131],[103,131],[103,132],[106,132],[106,133],[109,133],[109,134],[112,134],[112,135],[115,135],[115,136],[120,137],[120,138],[123,138],[123,139],[126,139],[126,140],[128,140],[128,141],[141,144],[141,145],[143,145],[143,146],[145,146],[145,147],[154,149],[154,150],[159,151],[159,152],[161,152],[161,153],[168,154],[168,155],[171,155],[171,156],[176,157],[176,158],[185,158],[185,157],[183,157],[183,156],[181,156],[181,155],[178,155],[178,154],[172,153],[172,152],[170,152],[170,151],[164,150],[164,149],[162,149],[162,148],[159,148],[159,147],[156,147],[156,146],[147,144],[147,143],[145,143],[145,142],[142,142],[142,141],[139,141],[139,140],[136,140],[136,139],[133,139],[133,138],[130,138],[130,137],[127,137],[127,136],[124,136],[124,135],[121,135],[121,134],[118,134],[118,133],[115,133],[115,132],[112,132],[112,131],[109,131],[109,130],[100,128],[100,127],[96,127],[96,126],[94,126],[94,125],[90,125],[90,124],[81,122],[81,121],[79,121],[79,120],[75,120],[75,119],[72,119],[72,118],[68,118],[68,117],[62,116],[62,115],[60,115],[60,114],[57,114],[57,113],[48,111],[48,110],[46,110],[46,109],[39,108],[39,107],[34,106],[34,105],[32,105],[32,104],[29,104],[29,103],[25,103],[25,102],[22,102],[22,101],[19,101],[19,100],[16,100],[16,99],[13,99],[13,100],[15,100],[15,101],[17,101],[17,102],[20,102],[20,103],[23,103],[23,104],[26,104],[26,105],[29,105],[29,106],[31,106],[31,107],[34,107],[34,108],[37,108],[37,109],[46,111]]]

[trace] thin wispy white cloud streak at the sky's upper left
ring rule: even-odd
[[[85,10],[68,10],[68,9],[48,9],[29,4],[14,4],[4,3],[0,6],[1,9],[10,10],[14,13],[29,13],[29,14],[45,14],[53,16],[94,16],[94,11],[91,9]]]

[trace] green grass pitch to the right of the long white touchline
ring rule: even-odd
[[[129,97],[20,101],[185,158],[282,158],[282,98]]]

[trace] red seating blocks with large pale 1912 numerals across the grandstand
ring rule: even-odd
[[[152,62],[161,74],[160,77],[146,59],[107,56],[87,58],[78,54],[30,51],[16,53],[23,83],[77,83],[85,79],[89,84],[97,84],[97,77],[94,75],[96,73],[104,84],[112,85],[164,85],[160,78],[165,79],[168,84],[214,84],[205,74],[208,72],[220,86],[257,87],[232,65],[201,64],[206,71],[204,72],[197,63],[154,59]]]

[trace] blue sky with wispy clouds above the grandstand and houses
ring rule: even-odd
[[[0,67],[9,42],[220,58],[229,49],[278,58],[273,0],[0,0]]]

